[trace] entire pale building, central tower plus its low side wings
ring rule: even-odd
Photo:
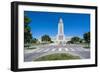
[[[62,18],[60,18],[58,23],[58,33],[57,36],[51,37],[52,41],[55,44],[66,44],[67,41],[70,41],[72,37],[66,37],[64,34],[64,23]],[[38,39],[42,43],[41,39]]]

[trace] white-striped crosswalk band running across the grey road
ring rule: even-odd
[[[42,48],[35,51],[35,53],[40,52],[68,52],[68,51],[89,51],[89,49],[84,48]]]

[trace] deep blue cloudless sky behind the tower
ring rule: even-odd
[[[45,34],[55,37],[60,18],[63,19],[66,37],[82,38],[85,32],[90,31],[90,14],[24,11],[24,15],[32,20],[29,26],[33,38],[40,38]]]

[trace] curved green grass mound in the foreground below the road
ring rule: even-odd
[[[56,53],[51,55],[46,55],[36,59],[35,61],[50,61],[50,60],[73,60],[73,59],[80,59],[79,56],[73,56],[71,54],[66,53]]]

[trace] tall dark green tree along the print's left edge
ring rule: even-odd
[[[31,19],[27,16],[24,16],[24,43],[30,43],[32,40],[32,33],[29,23]]]

